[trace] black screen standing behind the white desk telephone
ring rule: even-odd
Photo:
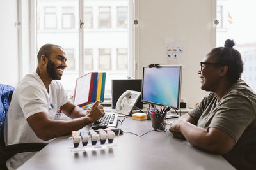
[[[112,80],[112,108],[115,109],[116,102],[118,101],[121,94],[126,90],[134,90],[141,92],[141,79],[125,79],[125,80]],[[136,106],[140,109],[143,108],[143,103],[141,102],[141,97],[138,99]]]

